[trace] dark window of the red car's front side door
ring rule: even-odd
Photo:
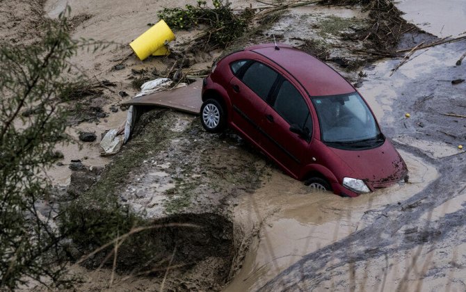
[[[296,124],[300,129],[312,132],[312,117],[303,96],[289,81],[285,80],[277,92],[273,108],[290,125]]]

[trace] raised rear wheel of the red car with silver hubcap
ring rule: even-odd
[[[216,99],[207,99],[200,108],[200,122],[202,127],[210,133],[225,130],[227,116],[225,108]]]

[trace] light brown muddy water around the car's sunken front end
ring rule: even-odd
[[[299,181],[275,172],[253,195],[242,198],[237,218],[260,222],[268,217],[243,268],[226,291],[254,291],[291,264],[371,224],[367,211],[397,204],[437,178],[432,165],[401,152],[410,183],[397,184],[357,198],[310,193]]]

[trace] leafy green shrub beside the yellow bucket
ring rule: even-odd
[[[227,0],[213,0],[214,8],[209,8],[206,1],[198,0],[197,6],[186,5],[185,8],[164,8],[157,13],[172,29],[191,29],[199,24],[209,26],[203,41],[211,47],[227,47],[232,40],[239,38],[246,29],[252,10],[233,13]]]

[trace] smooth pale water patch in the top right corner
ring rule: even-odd
[[[395,5],[408,22],[440,38],[466,33],[464,0],[400,0]]]

